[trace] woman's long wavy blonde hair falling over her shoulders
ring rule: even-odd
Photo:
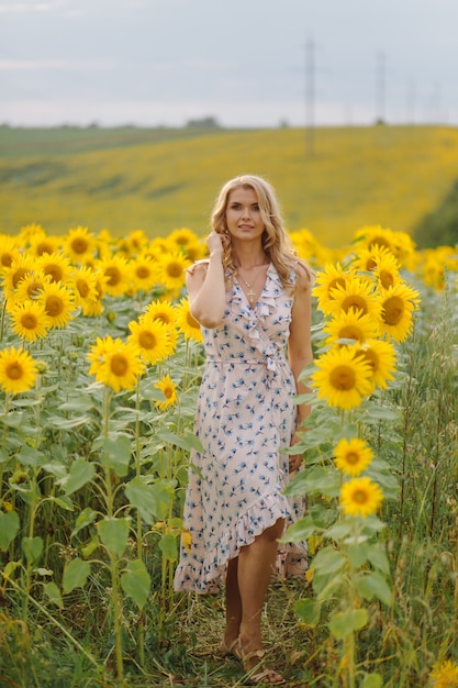
[[[222,235],[224,253],[223,265],[230,279],[235,274],[234,257],[232,254],[231,235],[226,224],[226,208],[231,191],[235,189],[253,189],[258,198],[260,215],[264,222],[261,243],[265,253],[273,264],[283,287],[294,290],[291,270],[298,264],[305,269],[310,285],[314,280],[311,267],[298,257],[297,251],[284,229],[280,206],[271,185],[262,177],[242,175],[226,181],[222,187],[212,212],[212,230]]]

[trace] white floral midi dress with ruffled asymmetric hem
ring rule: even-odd
[[[297,426],[295,381],[286,357],[293,296],[270,264],[252,308],[236,278],[220,326],[202,328],[206,356],[194,432],[176,590],[216,593],[227,563],[278,519],[303,517],[303,499],[283,495]],[[193,468],[192,468],[193,467]],[[306,568],[305,543],[279,544],[283,577]]]

